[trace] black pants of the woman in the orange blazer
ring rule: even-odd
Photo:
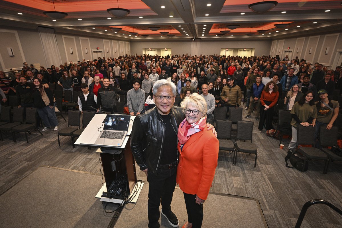
[[[193,228],[200,228],[203,221],[203,204],[196,203],[196,195],[190,195],[185,192],[183,192],[183,194],[186,212],[188,214],[188,222],[192,223]]]

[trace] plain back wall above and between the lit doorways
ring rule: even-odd
[[[191,53],[191,40],[189,41],[131,41],[132,53],[142,53],[143,49],[172,49],[172,55],[192,54],[192,55],[213,55],[220,54],[221,49],[247,48],[255,49],[254,55],[268,55],[271,40],[263,41],[205,41],[201,40],[200,53]]]

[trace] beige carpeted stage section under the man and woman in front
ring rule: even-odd
[[[147,227],[147,194],[145,183],[136,204],[127,204],[114,227]],[[160,207],[161,208],[161,207]],[[182,227],[187,221],[183,192],[175,188],[171,203],[173,213]],[[267,227],[258,200],[233,195],[210,193],[203,204],[202,227],[262,228]],[[161,228],[170,228],[167,219],[161,215]]]

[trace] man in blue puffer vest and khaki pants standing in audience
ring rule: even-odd
[[[260,114],[260,97],[261,93],[264,90],[264,83],[261,83],[261,76],[257,76],[257,81],[251,86],[251,102],[248,108],[248,113],[246,118],[249,118],[252,115],[252,111],[255,108],[255,120],[259,120]]]

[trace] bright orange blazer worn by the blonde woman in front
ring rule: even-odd
[[[190,136],[182,151],[179,146],[177,149],[177,184],[183,192],[206,200],[219,157],[219,140],[206,127]]]

